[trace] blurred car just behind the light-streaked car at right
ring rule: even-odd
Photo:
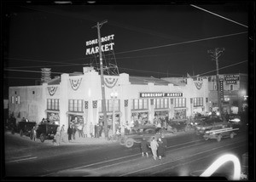
[[[206,120],[201,121],[201,123],[195,127],[195,134],[205,134],[205,132],[213,127],[223,126],[225,123],[226,122],[223,122],[219,117],[209,117]]]

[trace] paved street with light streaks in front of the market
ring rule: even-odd
[[[50,141],[32,142],[26,137],[20,138],[18,134],[5,136],[8,176],[199,175],[218,156],[228,152],[241,160],[241,155],[247,151],[246,133],[221,142],[215,139],[205,141],[193,130],[186,134],[170,135],[167,138],[166,157],[161,161],[154,161],[151,155],[148,158],[141,156],[139,145],[125,148],[118,142],[102,140],[102,144],[98,145],[78,142],[77,145],[55,146]],[[231,178],[233,171],[230,167],[232,165],[228,163],[219,171]]]

